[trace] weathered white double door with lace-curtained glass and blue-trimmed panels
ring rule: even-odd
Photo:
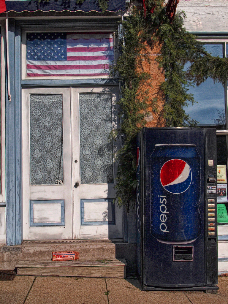
[[[117,88],[22,91],[23,240],[122,238],[109,132]]]

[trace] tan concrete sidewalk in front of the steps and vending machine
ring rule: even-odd
[[[0,281],[0,304],[226,304],[228,277],[217,294],[142,291],[136,279],[16,276]]]

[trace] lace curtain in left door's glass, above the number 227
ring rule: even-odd
[[[30,183],[53,185],[63,180],[61,94],[30,95]]]

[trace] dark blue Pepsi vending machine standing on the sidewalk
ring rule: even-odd
[[[137,265],[144,290],[217,290],[216,130],[137,136]]]

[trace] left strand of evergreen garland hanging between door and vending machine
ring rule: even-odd
[[[120,39],[122,54],[116,64],[110,66],[109,71],[111,77],[118,74],[120,81],[124,82],[118,102],[121,123],[119,129],[115,130],[112,135],[115,140],[119,138],[123,141],[123,147],[116,154],[119,166],[115,189],[118,205],[125,205],[128,212],[136,188],[136,147],[133,139],[146,125],[145,116],[149,115],[149,109],[156,112],[157,100],[149,99],[151,76],[142,71],[142,61],[149,62],[146,46],[142,43],[147,39],[147,33],[143,30],[145,20],[135,10],[133,16],[128,21],[124,21],[122,26],[125,46]]]

